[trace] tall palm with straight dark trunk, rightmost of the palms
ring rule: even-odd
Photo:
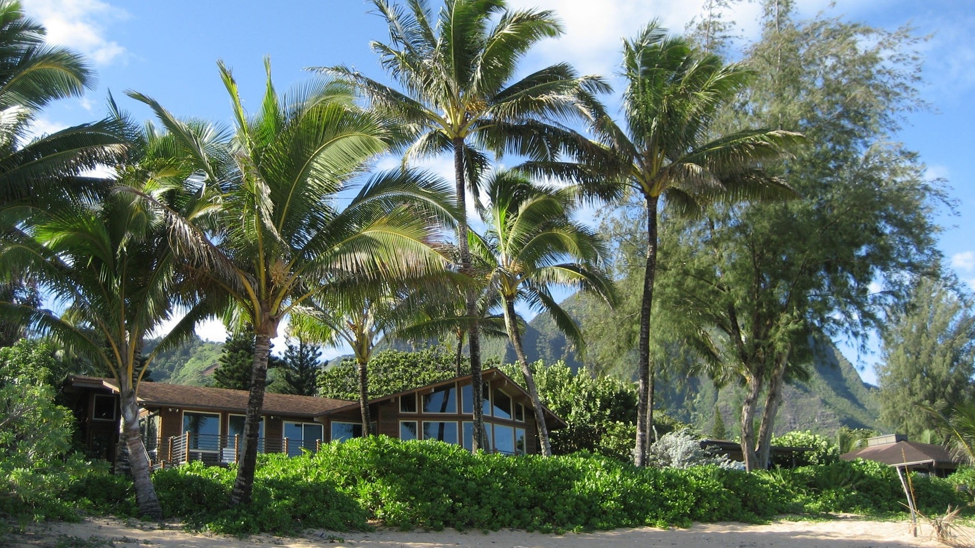
[[[761,172],[761,163],[783,157],[801,140],[785,131],[743,130],[714,135],[715,118],[747,83],[748,70],[668,36],[651,21],[623,42],[621,126],[605,113],[592,120],[603,145],[587,166],[528,163],[532,173],[575,176],[588,191],[607,199],[636,193],[646,211],[646,262],[640,307],[639,400],[634,460],[642,466],[653,422],[654,372],[650,366],[650,310],[657,264],[660,200],[679,212],[694,212],[710,200],[782,198],[789,186]],[[590,151],[591,152],[591,151]]]

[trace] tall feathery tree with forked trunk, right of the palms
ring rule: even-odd
[[[756,78],[722,124],[808,137],[795,160],[766,166],[788,177],[801,199],[716,205],[674,223],[662,239],[661,298],[692,320],[694,345],[722,357],[715,377],[745,387],[750,470],[768,462],[782,387],[806,374],[810,340],[820,333],[862,340],[883,305],[906,294],[911,274],[939,256],[932,214],[940,190],[917,156],[890,139],[899,113],[918,105],[916,39],[904,29],[791,14],[792,2],[766,3],[761,41],[746,61]],[[882,292],[871,289],[878,280]]]

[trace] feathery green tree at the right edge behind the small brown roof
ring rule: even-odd
[[[917,440],[938,425],[918,407],[940,409],[972,395],[975,314],[945,283],[919,280],[911,299],[891,310],[881,341],[880,420],[895,431]]]

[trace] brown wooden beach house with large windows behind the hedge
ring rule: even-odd
[[[484,372],[488,450],[539,451],[527,392],[497,369]],[[64,392],[78,419],[82,443],[93,456],[113,460],[118,441],[118,386],[113,379],[72,376]],[[248,392],[161,382],[138,387],[139,425],[153,465],[189,460],[234,462],[240,455]],[[471,375],[370,400],[379,434],[402,440],[441,440],[470,449],[473,438]],[[548,428],[565,421],[543,410]],[[359,403],[331,398],[264,396],[262,452],[316,450],[320,444],[362,436]]]

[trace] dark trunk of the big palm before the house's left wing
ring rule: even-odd
[[[272,326],[265,320],[255,326],[254,368],[251,372],[251,394],[247,402],[244,418],[244,441],[240,461],[237,465],[237,479],[230,491],[230,504],[251,502],[254,489],[254,471],[257,467],[257,446],[260,442],[260,411],[264,407],[264,389],[267,385],[267,357],[271,348],[271,333],[277,334],[277,324]]]

